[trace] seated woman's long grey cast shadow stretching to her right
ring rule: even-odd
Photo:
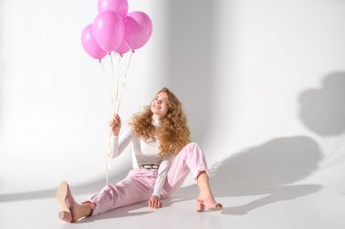
[[[243,215],[262,205],[310,195],[321,186],[290,184],[310,176],[321,157],[312,138],[275,138],[216,164],[210,170],[212,191],[217,197],[267,195],[247,205],[224,206],[222,213],[227,215]],[[182,187],[175,196],[192,199],[197,194],[193,185]]]

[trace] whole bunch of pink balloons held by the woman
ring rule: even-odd
[[[99,0],[99,14],[94,24],[88,24],[82,33],[84,51],[94,59],[106,53],[120,55],[137,50],[147,43],[153,33],[150,17],[140,11],[128,14],[127,0]]]

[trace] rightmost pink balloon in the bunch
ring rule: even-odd
[[[124,41],[133,49],[139,49],[147,43],[153,33],[153,23],[149,15],[133,11],[123,19]]]

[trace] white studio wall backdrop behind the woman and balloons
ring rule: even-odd
[[[0,196],[52,196],[61,180],[95,192],[113,112],[109,78],[80,42],[97,1],[0,4]],[[129,5],[151,16],[153,37],[133,55],[123,122],[167,86],[218,196],[302,181],[345,194],[344,1]],[[117,158],[112,181],[130,163]]]

